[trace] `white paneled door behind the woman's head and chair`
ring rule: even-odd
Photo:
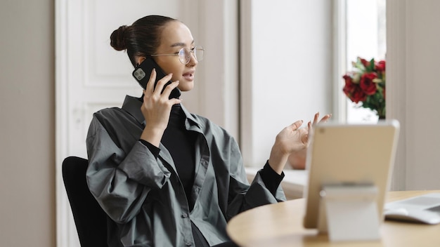
[[[86,158],[85,138],[93,112],[120,107],[127,94],[142,94],[131,77],[127,53],[110,46],[110,34],[120,25],[157,14],[182,20],[195,35],[197,10],[198,1],[56,1],[57,246],[79,246],[60,175],[61,162],[71,155]],[[198,112],[195,97],[185,103]]]

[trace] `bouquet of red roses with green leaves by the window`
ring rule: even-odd
[[[352,62],[354,70],[344,74],[343,91],[347,97],[359,104],[359,107],[370,108],[379,119],[385,118],[385,61],[376,62],[374,58],[367,61],[358,58]]]

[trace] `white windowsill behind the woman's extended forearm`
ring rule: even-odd
[[[246,167],[247,180],[252,182],[261,168]],[[281,182],[287,200],[303,197],[304,187],[309,180],[309,172],[305,170],[284,170],[285,177]]]

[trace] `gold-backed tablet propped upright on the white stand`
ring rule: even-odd
[[[306,158],[309,182],[304,187],[304,227],[318,227],[324,185],[375,185],[377,217],[382,222],[398,135],[396,120],[377,124],[318,123],[311,133]]]

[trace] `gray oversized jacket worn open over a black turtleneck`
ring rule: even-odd
[[[141,102],[126,97],[121,108],[93,114],[86,144],[89,189],[108,216],[109,246],[194,246],[192,221],[210,245],[228,241],[226,223],[234,215],[275,196],[259,173],[247,182],[237,142],[208,119],[186,114],[186,129],[197,131],[195,178],[189,211],[172,156],[161,144],[159,156],[139,142],[144,128]],[[120,243],[118,243],[120,241]]]

